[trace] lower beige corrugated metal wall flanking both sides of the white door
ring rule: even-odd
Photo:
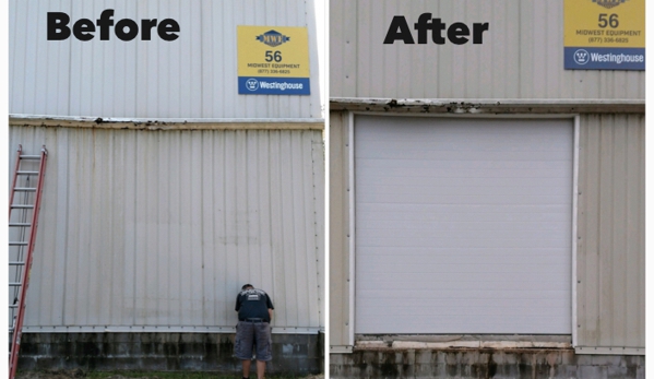
[[[330,344],[349,340],[348,118],[330,114]],[[576,344],[644,348],[644,115],[580,121]],[[613,348],[613,352],[608,348]],[[640,353],[638,350],[641,350]]]

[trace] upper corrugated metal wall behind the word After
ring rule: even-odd
[[[331,0],[330,96],[638,98],[644,71],[563,70],[563,1]],[[383,45],[391,20],[488,22],[481,45]]]

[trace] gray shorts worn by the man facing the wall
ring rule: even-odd
[[[270,323],[238,321],[234,355],[241,360],[252,359],[252,347],[257,348],[257,360],[273,358]]]

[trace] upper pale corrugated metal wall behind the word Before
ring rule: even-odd
[[[47,12],[71,24],[174,19],[179,39],[47,40]],[[307,26],[310,96],[238,95],[237,25]],[[9,112],[129,118],[321,118],[313,2],[11,0]]]

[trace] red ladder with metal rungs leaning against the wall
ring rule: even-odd
[[[23,146],[19,145],[16,166],[11,183],[11,197],[9,199],[9,287],[10,294],[13,293],[13,298],[10,298],[9,304],[10,379],[14,379],[16,375],[23,317],[25,316],[25,294],[29,283],[32,252],[36,240],[36,226],[38,224],[38,210],[47,156],[48,151],[45,145],[38,155],[25,155],[23,154]],[[36,167],[38,167],[37,170],[34,169]],[[36,186],[34,186],[35,180]],[[16,199],[16,192],[20,193],[17,198],[21,199]]]

